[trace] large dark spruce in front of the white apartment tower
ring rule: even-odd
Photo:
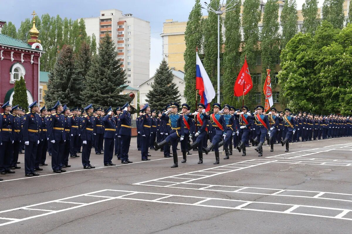
[[[120,94],[127,87],[126,73],[116,59],[115,48],[111,36],[106,33],[84,79],[82,96],[86,103],[106,108],[122,106],[128,100],[127,95]]]

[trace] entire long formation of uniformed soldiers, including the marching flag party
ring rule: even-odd
[[[54,107],[40,108],[37,101],[29,105],[30,112],[6,102],[0,118],[0,174],[15,173],[18,155],[25,150],[25,176],[38,176],[41,166],[48,166],[46,154],[51,156],[53,172],[66,172],[71,167],[69,158],[80,157],[84,169],[95,168],[89,158],[94,147],[95,154],[102,154],[104,166],[115,166],[113,155],[121,163],[132,163],[128,159],[132,136],[131,107],[103,110],[89,104],[85,108],[69,109],[59,101]],[[291,113],[286,108],[277,112],[271,108],[268,114],[258,105],[254,113],[243,106],[235,109],[230,105],[213,104],[213,112],[205,111],[200,103],[191,113],[187,103],[166,105],[162,111],[151,110],[148,104],[140,109],[136,119],[137,148],[142,161],[149,161],[149,149],[161,150],[165,158],[174,159],[172,168],[178,167],[178,142],[181,145],[182,163],[187,162],[190,150],[198,151],[199,161],[203,154],[214,151],[215,162],[220,163],[219,148],[223,147],[229,159],[233,148],[246,156],[248,147],[256,147],[258,156],[263,156],[263,145],[268,143],[270,151],[281,143],[285,152],[289,142],[322,140],[352,136],[352,121],[349,116],[330,114],[313,115],[307,112]],[[210,144],[208,145],[208,140]],[[251,143],[252,146],[249,145]],[[172,149],[172,153],[170,151]],[[82,149],[82,151],[81,151]],[[0,180],[2,180],[0,178]]]

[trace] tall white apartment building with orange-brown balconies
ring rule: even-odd
[[[117,9],[102,10],[98,17],[83,20],[87,35],[95,34],[97,48],[106,32],[111,35],[126,71],[127,85],[137,88],[149,79],[150,22]]]

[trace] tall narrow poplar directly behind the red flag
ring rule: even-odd
[[[259,6],[259,0],[245,0],[243,3],[241,65],[244,63],[246,57],[250,73],[255,73],[257,56],[260,55],[258,47],[258,23],[262,14],[260,13]],[[257,105],[256,92],[258,92],[258,85],[253,82],[252,90],[245,96],[245,105],[249,106],[249,108],[254,108]]]

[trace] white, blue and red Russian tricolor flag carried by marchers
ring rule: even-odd
[[[198,52],[196,53],[196,89],[198,89],[198,94],[201,96],[201,103],[203,103],[206,107],[206,111],[210,111],[210,102],[215,97],[215,89],[213,87],[212,82],[209,79],[205,68],[203,67],[202,62],[198,56]]]

